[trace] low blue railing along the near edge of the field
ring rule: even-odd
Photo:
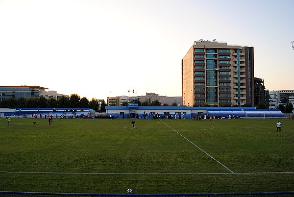
[[[197,193],[197,194],[82,194],[82,193],[36,193],[36,192],[0,192],[0,197],[294,197],[291,192],[262,193]]]

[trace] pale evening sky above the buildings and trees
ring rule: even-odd
[[[181,59],[216,39],[253,46],[254,76],[293,90],[293,24],[294,0],[0,0],[0,85],[181,96]]]

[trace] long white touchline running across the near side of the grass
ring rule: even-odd
[[[23,174],[93,174],[93,175],[218,175],[218,174],[287,174],[294,172],[219,172],[219,173],[98,173],[98,172],[8,172],[0,173],[23,173]]]

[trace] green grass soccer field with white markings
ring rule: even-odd
[[[0,119],[0,191],[229,193],[294,190],[294,123]]]

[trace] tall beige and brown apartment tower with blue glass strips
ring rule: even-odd
[[[182,59],[186,106],[254,106],[253,47],[195,41]]]

